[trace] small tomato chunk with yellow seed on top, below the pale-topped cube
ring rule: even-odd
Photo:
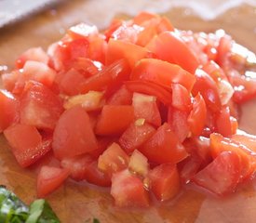
[[[138,124],[138,121],[142,123]],[[155,127],[145,123],[145,120],[137,120],[135,123],[128,126],[127,130],[119,138],[119,143],[125,151],[130,153],[141,147],[141,145],[154,134]]]

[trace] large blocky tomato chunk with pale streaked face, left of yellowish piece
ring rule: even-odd
[[[47,86],[28,82],[20,97],[20,123],[53,130],[63,112],[61,99]]]

